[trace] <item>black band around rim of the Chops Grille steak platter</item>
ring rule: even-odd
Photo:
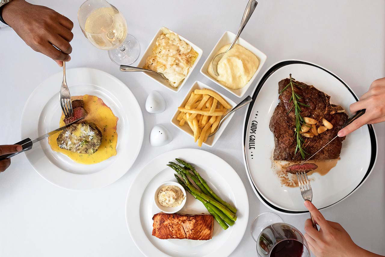
[[[253,101],[251,101],[251,103],[249,104],[249,107],[248,107],[248,110],[246,112],[246,116],[245,116],[245,120],[244,120],[244,130],[243,130],[243,157],[244,157],[244,163],[245,163],[245,166],[246,166],[246,172],[249,176],[249,181],[251,183],[251,186],[253,186],[254,188],[254,191],[258,194],[258,197],[260,200],[262,200],[267,206],[269,206],[270,208],[272,208],[273,210],[276,210],[276,211],[280,211],[282,213],[291,213],[291,214],[300,214],[300,213],[307,213],[308,211],[290,211],[290,210],[285,210],[285,209],[281,209],[281,208],[278,208],[277,206],[269,203],[269,201],[267,201],[261,193],[259,193],[258,189],[256,188],[255,184],[253,183],[253,180],[251,179],[251,175],[250,175],[250,172],[249,172],[249,168],[248,168],[248,164],[247,164],[247,159],[246,159],[246,134],[247,134],[247,128],[248,128],[248,123],[249,123],[249,118],[250,118],[250,114],[251,114],[251,110],[253,109],[254,107],[254,102],[258,96],[258,93],[259,91],[261,90],[262,86],[264,85],[264,83],[266,82],[266,80],[271,76],[271,74],[273,74],[276,70],[282,68],[283,66],[286,66],[286,65],[290,65],[290,64],[306,64],[306,65],[310,65],[310,66],[314,66],[314,67],[317,67],[325,72],[327,72],[328,74],[330,74],[331,76],[333,76],[334,78],[338,79],[338,81],[340,81],[345,87],[346,89],[353,95],[354,99],[356,101],[358,101],[358,98],[357,96],[353,93],[353,91],[348,87],[348,85],[346,85],[346,83],[344,81],[342,81],[342,79],[340,79],[338,76],[336,76],[335,74],[331,73],[330,71],[328,71],[327,69],[325,68],[322,68],[316,64],[313,64],[313,63],[308,63],[308,62],[305,62],[305,61],[298,61],[298,60],[287,60],[287,61],[281,61],[279,63],[276,63],[274,64],[273,66],[271,66],[271,68],[268,69],[268,71],[266,71],[262,78],[259,80],[258,82],[258,85],[253,93]],[[352,192],[348,193],[345,197],[341,198],[340,200],[336,201],[335,203],[331,204],[331,205],[335,205],[336,203],[338,203],[339,201],[345,199],[346,197],[348,197],[350,194],[352,194],[364,181],[365,179],[369,176],[370,172],[372,171],[372,168],[375,164],[375,160],[376,160],[376,156],[377,156],[377,140],[376,140],[376,136],[375,136],[375,133],[374,133],[374,130],[373,130],[373,127],[372,125],[367,125],[368,126],[368,130],[369,130],[369,135],[370,135],[370,142],[371,142],[371,146],[372,146],[372,155],[370,157],[370,163],[369,163],[369,167],[368,167],[368,170],[367,172],[365,173],[365,176],[362,178],[361,182],[353,189]],[[325,206],[321,209],[324,209],[324,208],[328,208],[329,206],[331,205],[328,205],[328,206]],[[321,210],[320,209],[320,210]]]

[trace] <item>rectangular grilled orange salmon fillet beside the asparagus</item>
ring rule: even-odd
[[[157,213],[152,217],[152,235],[160,239],[209,240],[213,237],[214,217],[208,214]]]

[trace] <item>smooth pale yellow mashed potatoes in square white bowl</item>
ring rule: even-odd
[[[219,49],[214,56],[226,52],[230,44]],[[222,85],[236,90],[243,88],[253,77],[259,66],[258,58],[243,46],[235,44],[226,52],[218,63],[218,74],[213,73],[213,61],[209,64],[207,72]]]

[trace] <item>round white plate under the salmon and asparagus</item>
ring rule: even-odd
[[[233,226],[223,230],[214,221],[213,238],[207,241],[159,239],[152,236],[152,216],[160,211],[154,203],[154,191],[164,181],[176,181],[168,162],[175,158],[191,163],[218,195],[237,209]],[[187,193],[178,213],[208,213],[204,205]],[[146,256],[228,256],[237,247],[246,230],[249,201],[246,189],[234,169],[218,156],[199,149],[178,149],[150,161],[132,182],[126,200],[126,221],[131,238]]]

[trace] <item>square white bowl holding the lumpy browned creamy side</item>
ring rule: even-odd
[[[152,41],[150,42],[149,46],[147,47],[146,51],[144,51],[144,54],[142,56],[142,58],[140,59],[139,61],[139,64],[138,64],[138,67],[139,68],[143,68],[144,64],[146,64],[146,59],[147,57],[149,57],[151,54],[152,54],[152,49],[154,49],[154,47],[156,46],[156,40],[157,38],[163,33],[162,29],[165,28],[165,29],[168,29],[166,27],[161,27],[158,32],[156,32],[154,38],[152,39]],[[200,49],[198,46],[196,46],[195,44],[192,44],[191,41],[187,40],[186,38],[182,37],[180,34],[172,31],[171,29],[168,29],[170,30],[171,32],[177,34],[179,36],[179,38],[183,41],[185,41],[187,44],[189,44],[192,49],[194,49],[197,53],[198,53],[198,57],[196,58],[194,64],[192,65],[192,67],[189,69],[189,72],[187,73],[187,76],[186,78],[184,78],[184,80],[182,81],[182,83],[177,87],[177,88],[174,88],[173,86],[171,86],[169,83],[167,83],[166,81],[163,81],[162,79],[159,79],[159,77],[155,74],[152,74],[152,73],[146,73],[146,72],[143,72],[143,74],[145,74],[147,77],[150,77],[152,78],[153,80],[155,80],[156,82],[158,82],[159,84],[165,86],[166,88],[168,88],[169,90],[171,91],[174,91],[174,92],[179,92],[179,90],[181,90],[182,86],[184,85],[184,83],[186,83],[187,79],[189,78],[190,74],[192,73],[192,71],[194,70],[195,66],[198,64],[199,62],[199,59],[201,59],[202,57],[202,54],[203,54],[203,51],[202,49]]]

